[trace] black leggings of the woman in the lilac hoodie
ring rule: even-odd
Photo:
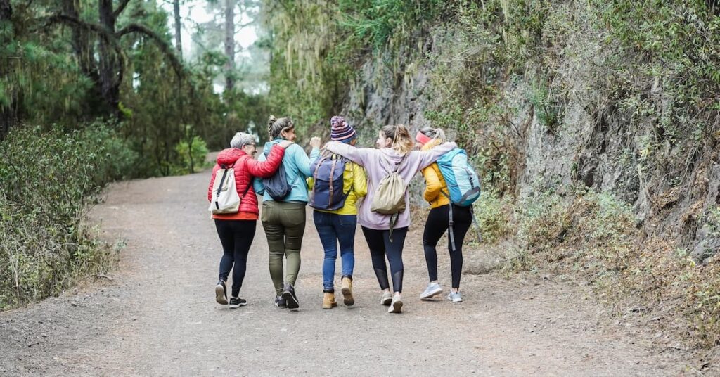
[[[395,292],[402,292],[402,246],[405,244],[405,236],[408,235],[408,228],[392,229],[392,241],[390,241],[390,230],[378,231],[362,227],[367,247],[372,257],[372,267],[377,276],[377,283],[380,289],[389,289],[387,283],[387,262],[390,262],[390,275],[392,275],[392,288]]]

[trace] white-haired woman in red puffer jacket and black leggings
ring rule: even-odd
[[[207,200],[212,199],[212,185],[215,172],[219,169],[232,167],[235,172],[235,188],[240,196],[240,208],[237,213],[213,214],[215,229],[222,244],[220,259],[220,276],[215,285],[215,301],[228,305],[226,282],[230,270],[233,270],[233,290],[230,296],[230,308],[246,305],[247,301],[240,298],[243,286],[248,252],[255,237],[255,226],[258,221],[258,199],[253,189],[255,177],[270,177],[280,166],[285,155],[285,148],[292,144],[284,141],[273,146],[266,161],[256,161],[255,136],[248,133],[235,133],[230,141],[230,148],[223,149],[217,155],[217,164],[212,169],[210,186],[207,187]],[[234,265],[234,269],[233,269]]]

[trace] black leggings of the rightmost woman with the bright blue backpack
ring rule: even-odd
[[[450,252],[450,270],[452,272],[452,288],[460,288],[460,274],[462,273],[462,241],[465,239],[470,225],[472,225],[472,212],[470,207],[452,205],[453,234],[455,236],[455,251],[452,250],[450,235],[448,235],[448,251]],[[440,237],[448,230],[450,223],[450,205],[442,205],[430,210],[428,221],[425,223],[423,233],[423,249],[425,261],[428,263],[430,281],[438,280],[438,253],[436,246]]]

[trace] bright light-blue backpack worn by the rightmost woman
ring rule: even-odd
[[[467,161],[464,149],[455,148],[437,161],[441,174],[448,185],[447,196],[454,205],[467,207],[480,198],[480,179]]]

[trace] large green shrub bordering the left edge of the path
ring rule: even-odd
[[[106,125],[14,128],[0,143],[0,309],[60,293],[109,268],[114,252],[85,223],[107,182],[136,156]]]

